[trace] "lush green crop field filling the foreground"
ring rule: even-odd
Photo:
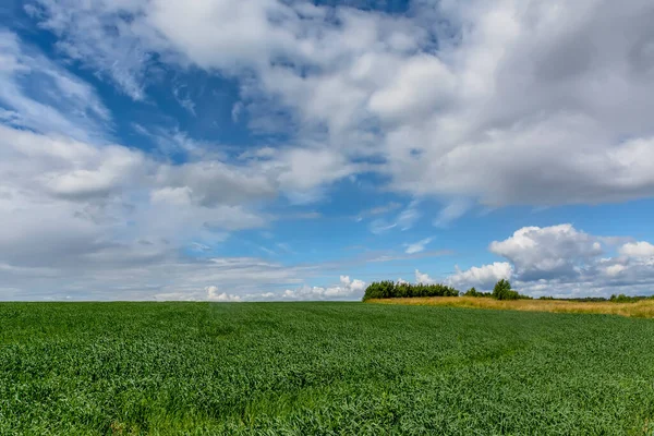
[[[0,434],[654,434],[654,322],[363,303],[0,304]]]

